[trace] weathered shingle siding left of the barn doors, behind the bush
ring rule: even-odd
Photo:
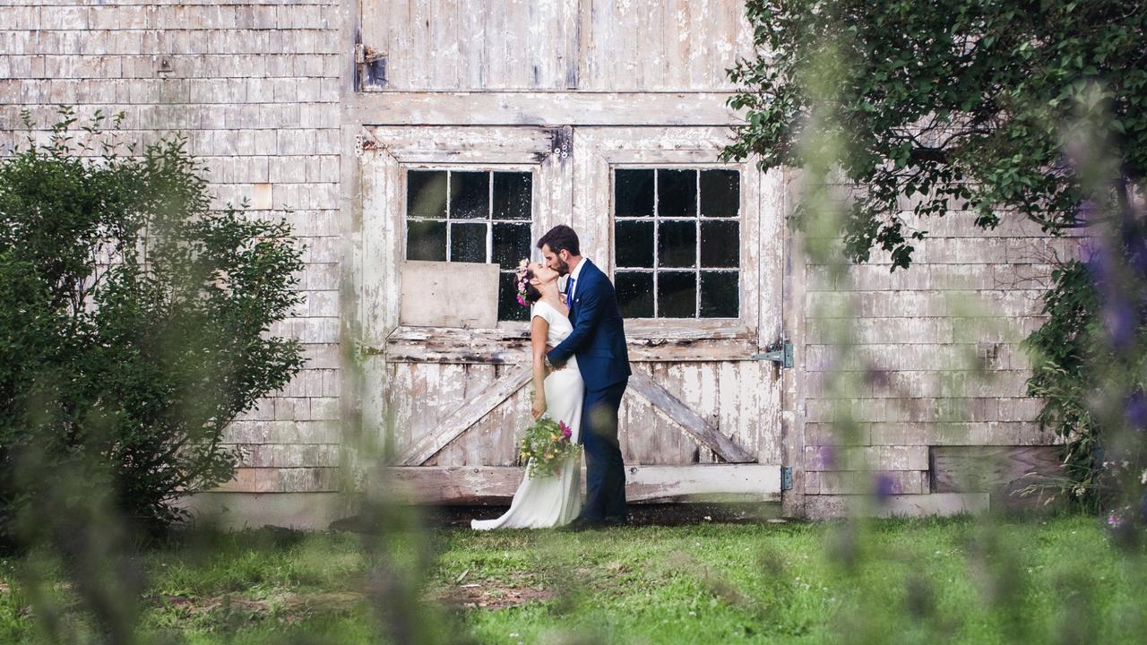
[[[81,122],[96,109],[123,110],[124,141],[182,132],[210,169],[214,207],[251,199],[253,216],[287,217],[306,246],[306,302],[272,329],[304,343],[306,367],[226,430],[242,449],[227,491],[338,488],[338,104],[348,67],[338,11],[338,2],[306,0],[0,7],[0,154],[45,137],[21,130],[22,109],[41,126],[55,123],[60,103]]]

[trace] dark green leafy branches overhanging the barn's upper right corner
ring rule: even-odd
[[[927,231],[905,220],[902,197],[922,218],[975,216],[984,228],[1001,209],[1051,233],[1086,225],[1086,192],[1060,145],[1080,102],[1105,102],[1108,154],[1129,181],[1147,176],[1142,3],[748,0],[746,10],[767,55],[729,70],[743,87],[729,106],[747,123],[727,156],[757,154],[765,170],[838,156],[856,261],[879,246],[894,270],[912,263]],[[810,127],[836,149],[810,147]],[[802,213],[797,204],[797,224]]]

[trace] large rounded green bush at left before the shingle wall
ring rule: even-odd
[[[297,341],[268,333],[302,301],[290,227],[211,210],[182,137],[136,154],[120,121],[96,112],[76,132],[62,108],[47,142],[0,163],[8,539],[21,511],[101,490],[145,524],[180,519],[179,497],[234,475],[224,428],[303,364]]]

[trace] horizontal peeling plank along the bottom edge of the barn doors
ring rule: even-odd
[[[522,473],[522,468],[514,466],[387,469],[400,494],[418,504],[505,504],[514,496]],[[639,504],[707,500],[728,495],[766,502],[780,494],[780,466],[775,465],[629,465],[625,480],[626,500]]]

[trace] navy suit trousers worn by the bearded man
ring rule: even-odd
[[[585,449],[587,520],[625,519],[625,464],[617,441],[617,410],[625,381],[601,390],[586,390],[582,405],[582,444]]]

